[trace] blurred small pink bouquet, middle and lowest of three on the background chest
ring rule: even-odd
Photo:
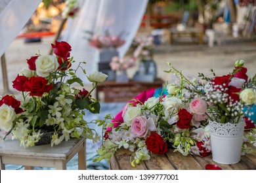
[[[113,71],[126,70],[134,65],[134,58],[119,58],[118,56],[114,56],[110,61],[110,67]]]

